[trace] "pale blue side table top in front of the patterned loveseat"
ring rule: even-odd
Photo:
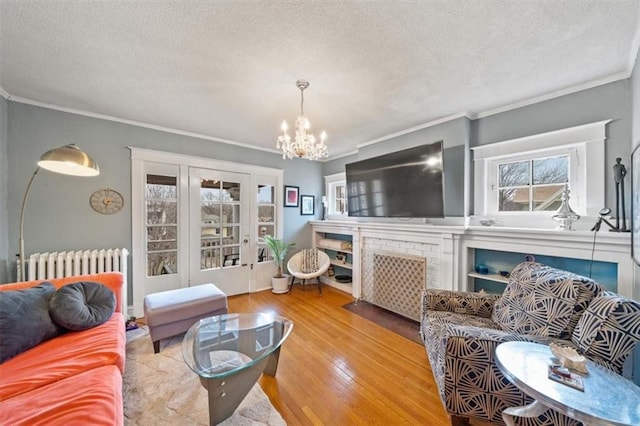
[[[619,374],[587,361],[584,391],[547,377],[557,363],[548,346],[506,342],[496,348],[500,370],[523,392],[545,406],[589,424],[640,425],[640,388]]]

